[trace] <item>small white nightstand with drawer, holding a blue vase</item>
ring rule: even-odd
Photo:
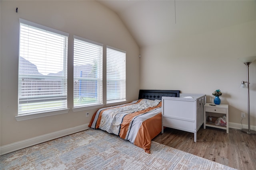
[[[211,106],[210,104],[215,105],[215,106]],[[215,120],[218,117],[222,117],[224,115],[226,116],[227,125],[226,126],[215,125],[214,124]],[[213,117],[212,123],[209,123],[208,116]],[[216,105],[216,104],[212,104],[212,103],[206,103],[204,105],[204,129],[206,128],[206,126],[216,127],[219,129],[226,129],[226,132],[228,133],[228,105],[227,104]]]

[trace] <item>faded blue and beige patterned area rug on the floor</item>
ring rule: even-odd
[[[151,154],[102,130],[88,129],[2,155],[1,170],[232,170],[152,141]]]

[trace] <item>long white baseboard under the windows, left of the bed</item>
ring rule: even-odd
[[[76,127],[71,127],[71,128],[64,129],[64,130],[60,130],[60,131],[56,131],[53,133],[48,133],[46,135],[33,137],[30,139],[26,139],[24,141],[18,141],[18,142],[12,143],[12,144],[4,145],[0,148],[0,155],[14,152],[16,150],[24,149],[27,147],[31,147],[31,146],[37,145],[39,143],[57,139],[59,137],[64,137],[66,135],[84,131],[86,129],[89,129],[88,125],[89,125],[89,123],[80,125],[80,126],[76,126]]]

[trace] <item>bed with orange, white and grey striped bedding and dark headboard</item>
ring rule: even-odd
[[[180,90],[140,90],[138,100],[96,111],[89,127],[113,133],[150,153],[151,140],[162,131],[162,96]]]

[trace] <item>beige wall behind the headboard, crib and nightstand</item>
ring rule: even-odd
[[[220,89],[221,103],[229,104],[230,127],[242,127],[247,89],[239,86],[247,79],[246,66],[238,58],[256,56],[256,20],[142,47],[140,51],[141,89],[206,94],[211,103],[212,92]],[[250,64],[249,73],[250,124],[255,130],[256,61]],[[242,124],[248,129],[247,115]]]

